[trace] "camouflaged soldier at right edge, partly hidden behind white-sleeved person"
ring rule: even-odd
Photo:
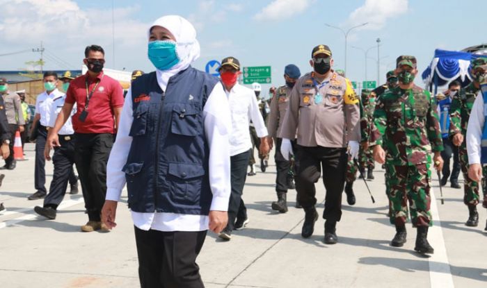
[[[463,172],[463,203],[468,206],[469,217],[466,226],[475,227],[479,225],[479,212],[477,212],[477,204],[479,204],[479,183],[468,177],[468,153],[467,144],[464,141],[467,133],[468,119],[474,104],[475,98],[480,91],[480,81],[486,77],[486,71],[482,67],[486,65],[485,58],[477,58],[470,64],[470,74],[473,76],[473,81],[468,86],[461,88],[461,90],[453,97],[452,106],[450,110],[450,127],[449,135],[452,137],[454,145],[458,146],[458,156],[460,157],[461,169]],[[487,167],[484,167],[484,176],[487,175]],[[482,189],[484,191],[484,198],[487,192],[486,178],[482,178]],[[487,203],[487,202],[484,202]]]

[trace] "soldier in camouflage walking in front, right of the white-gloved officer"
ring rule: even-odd
[[[387,167],[390,222],[396,226],[392,246],[406,242],[408,202],[413,227],[417,228],[415,251],[433,253],[427,240],[432,225],[429,196],[431,152],[441,171],[443,149],[436,103],[428,91],[413,81],[417,74],[413,56],[397,58],[399,87],[386,90],[374,111],[374,158]],[[384,147],[385,151],[383,150]]]

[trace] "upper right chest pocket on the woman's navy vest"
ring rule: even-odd
[[[200,119],[200,110],[194,105],[175,104],[170,130],[177,135],[196,136],[203,132]]]

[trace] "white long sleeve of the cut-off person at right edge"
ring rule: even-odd
[[[467,126],[468,164],[480,164],[482,133],[484,131],[485,108],[484,97],[479,92],[475,98]]]

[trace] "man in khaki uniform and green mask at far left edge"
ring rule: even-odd
[[[24,131],[24,115],[22,114],[22,105],[20,104],[20,97],[15,92],[8,91],[8,83],[6,78],[0,78],[0,94],[3,98],[5,113],[7,115],[8,128],[10,130],[10,139],[4,140],[8,142],[10,147],[10,155],[5,159],[5,166],[0,169],[15,169],[16,163],[13,158],[13,144],[15,142],[15,132],[19,130]]]

